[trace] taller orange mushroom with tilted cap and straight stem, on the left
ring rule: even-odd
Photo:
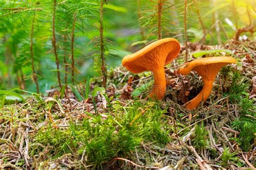
[[[164,38],[151,43],[136,53],[126,55],[122,60],[122,65],[132,73],[152,71],[154,73],[154,86],[149,97],[161,100],[166,88],[164,66],[176,58],[179,51],[178,40]]]

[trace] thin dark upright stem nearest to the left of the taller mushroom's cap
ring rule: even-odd
[[[106,70],[106,61],[104,56],[104,38],[103,38],[103,5],[104,0],[100,1],[100,58],[102,59],[102,76],[103,76],[103,87],[106,88],[106,81],[107,81],[107,70]]]

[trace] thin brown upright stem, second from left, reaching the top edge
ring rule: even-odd
[[[53,46],[53,51],[54,51],[54,54],[55,54],[55,61],[56,61],[56,66],[57,66],[57,76],[58,76],[59,87],[62,88],[62,82],[60,81],[59,58],[58,58],[58,53],[57,53],[56,36],[55,36],[55,13],[56,13],[56,6],[57,6],[57,0],[53,0],[52,46]]]

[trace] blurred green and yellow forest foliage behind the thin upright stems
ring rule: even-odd
[[[156,2],[155,0],[109,0],[106,2],[107,4],[104,5],[104,39],[108,69],[119,66],[124,55],[142,48],[145,42],[157,39]],[[188,40],[191,42],[199,41],[203,37],[203,30],[196,12],[197,6],[193,2],[188,1],[187,6],[187,32]],[[206,30],[210,29],[218,19],[223,24],[228,37],[231,38],[234,36],[235,27],[255,24],[253,20],[255,18],[254,1],[196,2]],[[71,31],[74,13],[77,13],[74,54],[76,80],[82,82],[87,76],[98,76],[93,68],[93,61],[100,53],[98,48],[99,3],[99,0],[57,1],[56,43],[63,82],[64,56],[69,59],[68,82],[71,82]],[[165,1],[163,8],[163,38],[176,37],[183,43],[183,1]],[[19,87],[36,91],[35,83],[31,79],[30,60],[30,33],[33,18],[35,18],[33,51],[39,87],[41,92],[44,92],[57,85],[55,56],[51,44],[52,10],[53,1],[51,0],[4,0],[0,2],[0,89]],[[218,13],[218,18],[214,17],[216,13]],[[218,44],[216,35],[215,29],[212,29],[206,36],[205,43]],[[223,42],[227,40],[223,30],[220,31],[220,39]]]

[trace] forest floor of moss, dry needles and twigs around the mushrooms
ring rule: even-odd
[[[151,73],[132,75],[123,67],[109,72],[106,91],[94,78],[69,88],[68,97],[52,89],[47,97],[33,94],[26,102],[5,105],[0,109],[0,169],[253,169],[256,42],[190,44],[191,53],[198,49],[229,49],[233,54],[202,55],[233,56],[238,63],[220,71],[207,102],[193,111],[183,103],[203,86],[196,73],[180,76],[166,69],[165,97],[154,102],[147,99]],[[184,53],[181,48],[170,67],[181,65]],[[84,91],[86,86],[91,92]]]

